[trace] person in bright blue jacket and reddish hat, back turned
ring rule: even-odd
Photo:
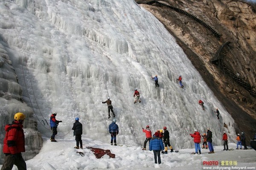
[[[161,157],[160,152],[161,150],[164,150],[163,146],[163,140],[159,137],[159,133],[154,133],[154,136],[152,137],[150,143],[149,143],[149,150],[153,150],[154,152],[154,160],[155,164],[157,164],[157,158],[158,158],[158,164],[161,164]]]

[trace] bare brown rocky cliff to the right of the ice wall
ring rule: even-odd
[[[234,0],[137,0],[176,38],[209,87],[236,121],[236,130],[256,133],[256,98],[238,80],[212,64],[218,49],[230,71],[256,91],[256,14]],[[170,54],[171,56],[172,54]],[[184,80],[186,81],[186,80]]]

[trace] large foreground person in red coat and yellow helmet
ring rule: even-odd
[[[25,152],[25,136],[23,122],[25,115],[16,113],[12,124],[5,126],[5,138],[3,139],[3,153],[5,154],[1,170],[12,170],[15,164],[18,170],[26,170],[26,162],[21,153]]]

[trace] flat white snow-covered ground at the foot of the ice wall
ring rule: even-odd
[[[117,136],[118,141],[118,136]],[[96,159],[93,152],[87,148],[75,149],[73,139],[60,139],[58,142],[44,142],[44,147],[34,159],[26,161],[28,170],[203,170],[204,167],[238,169],[239,167],[256,168],[256,151],[253,149],[236,150],[236,144],[230,143],[230,149],[223,151],[223,146],[214,146],[215,153],[202,149],[201,155],[191,154],[195,149],[181,149],[178,153],[161,155],[162,164],[154,164],[153,151],[141,150],[141,147],[131,145],[110,146],[109,144],[83,137],[84,147],[109,149],[116,155],[115,159],[108,155]],[[84,153],[81,157],[76,151]],[[169,151],[169,150],[168,150]],[[214,161],[214,165],[207,166],[204,161]],[[216,165],[216,161],[218,164]],[[228,162],[227,162],[228,161]],[[205,165],[203,165],[203,163]],[[211,164],[211,163],[209,163]],[[228,166],[227,166],[228,165]],[[230,166],[231,165],[231,166]]]

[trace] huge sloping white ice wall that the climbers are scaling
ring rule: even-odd
[[[72,137],[69,132],[79,116],[86,137],[110,142],[112,118],[107,119],[107,106],[101,103],[110,96],[119,143],[142,145],[146,125],[153,131],[166,126],[171,144],[179,148],[193,147],[189,133],[194,129],[203,133],[207,127],[213,132],[213,144],[221,144],[223,130],[233,140],[232,117],[175,39],[134,0],[16,0],[2,3],[1,8],[0,23],[15,24],[1,28],[0,34],[14,49],[12,62],[23,98],[32,99],[40,121],[49,120],[52,111],[58,113],[57,119],[63,121],[59,138]],[[26,69],[21,70],[22,65]],[[160,88],[151,79],[155,74]],[[185,88],[178,85],[179,75]],[[140,104],[133,103],[134,88],[140,91]],[[221,112],[220,120],[215,108]],[[42,124],[38,129],[50,136]]]

